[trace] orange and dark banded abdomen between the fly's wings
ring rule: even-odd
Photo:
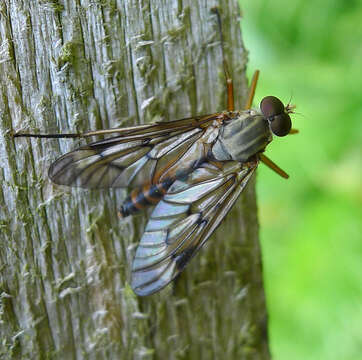
[[[135,214],[146,206],[156,205],[173,182],[173,179],[168,178],[159,184],[144,185],[134,189],[121,206],[121,217]]]

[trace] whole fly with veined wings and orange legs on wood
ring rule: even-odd
[[[218,15],[218,13],[217,13]],[[218,15],[219,25],[221,26]],[[232,79],[224,59],[227,110],[205,116],[80,134],[14,137],[86,138],[117,134],[58,158],[49,177],[82,188],[132,188],[121,217],[155,206],[132,265],[131,286],[140,296],[155,293],[184,270],[229,212],[260,161],[288,175],[264,154],[273,135],[291,130],[293,107],[265,97],[251,104],[256,71],[243,111],[234,110]]]

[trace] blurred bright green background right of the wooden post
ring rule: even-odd
[[[240,1],[257,105],[297,105],[258,203],[274,359],[362,359],[362,2]]]

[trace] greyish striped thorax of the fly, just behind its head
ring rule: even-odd
[[[244,162],[263,151],[271,140],[269,124],[260,113],[235,112],[220,128],[211,151],[216,160]]]

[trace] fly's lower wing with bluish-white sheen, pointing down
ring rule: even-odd
[[[172,281],[231,209],[257,160],[206,162],[176,180],[153,210],[132,266],[132,288],[150,295]]]

